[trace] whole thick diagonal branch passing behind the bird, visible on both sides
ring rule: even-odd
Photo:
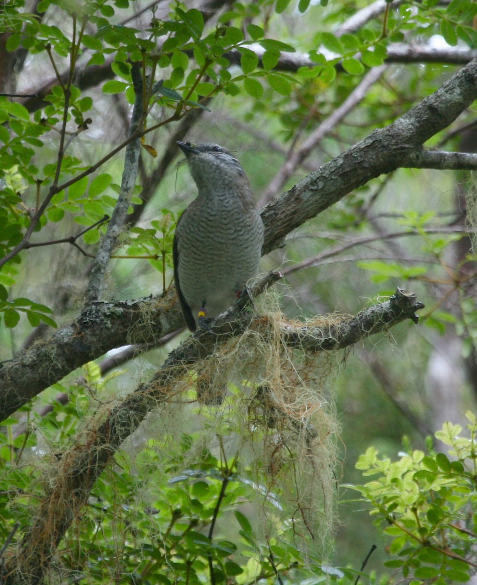
[[[324,164],[262,209],[263,253],[282,246],[286,235],[344,195],[402,166],[409,153],[446,128],[477,98],[477,60],[451,77],[386,128],[375,130]],[[49,340],[34,345],[0,369],[3,420],[70,371],[127,343],[154,343],[184,325],[174,290],[163,297],[95,302]]]

